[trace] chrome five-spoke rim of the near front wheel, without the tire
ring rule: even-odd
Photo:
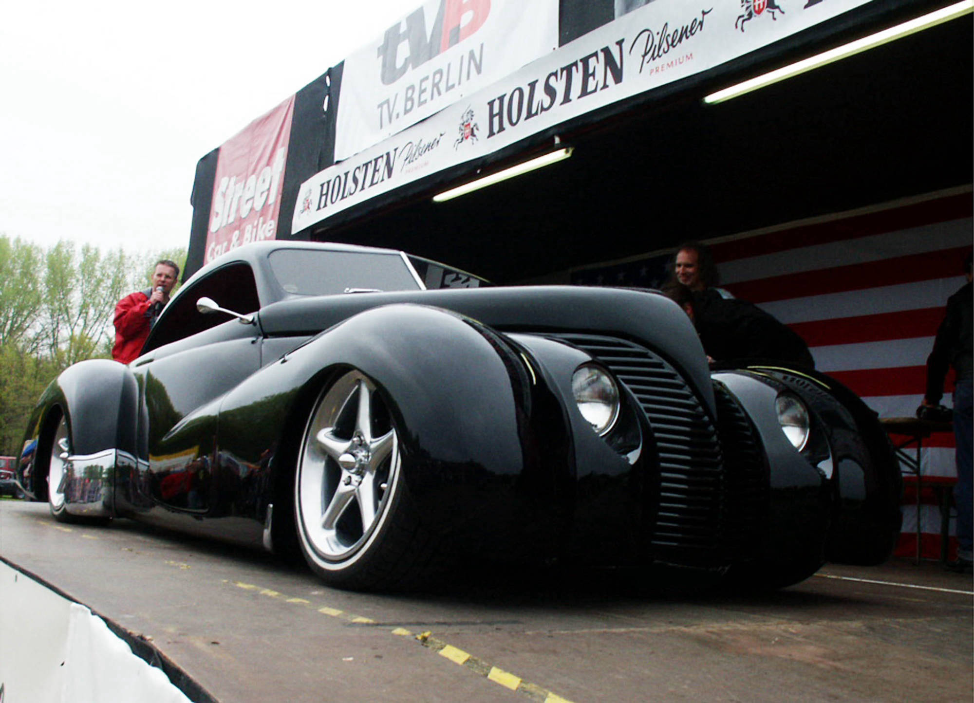
[[[368,550],[391,511],[399,465],[386,403],[349,371],[318,397],[298,460],[298,532],[318,567],[345,568]]]

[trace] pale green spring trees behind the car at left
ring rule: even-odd
[[[115,304],[150,284],[156,261],[186,251],[131,254],[59,241],[42,249],[0,234],[0,455],[17,455],[44,388],[73,363],[111,357]]]

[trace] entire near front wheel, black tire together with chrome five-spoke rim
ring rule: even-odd
[[[413,588],[431,555],[403,480],[389,401],[356,370],[318,395],[294,472],[298,541],[329,585]]]

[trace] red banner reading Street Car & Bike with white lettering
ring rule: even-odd
[[[293,115],[291,95],[220,147],[205,264],[241,244],[276,238]]]

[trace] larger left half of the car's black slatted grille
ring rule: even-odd
[[[553,335],[604,363],[632,392],[653,430],[658,504],[652,544],[682,559],[722,551],[725,471],[717,431],[683,377],[653,351],[612,337]]]

